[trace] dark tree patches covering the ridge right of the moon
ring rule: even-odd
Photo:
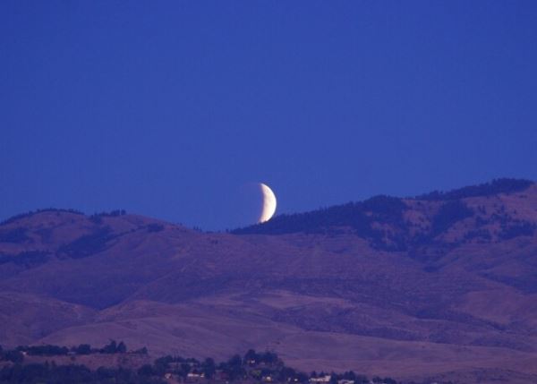
[[[490,183],[469,186],[450,192],[430,192],[419,196],[418,201],[440,201],[441,205],[430,218],[430,225],[422,226],[419,231],[412,232],[412,223],[405,222],[404,214],[407,206],[402,199],[389,196],[376,196],[367,201],[349,202],[344,205],[317,209],[311,212],[293,215],[280,215],[266,223],[246,226],[232,231],[236,235],[262,234],[281,235],[303,232],[305,234],[337,235],[349,229],[364,239],[371,246],[384,251],[409,251],[419,253],[418,248],[435,243],[439,245],[442,240],[438,236],[445,233],[450,227],[465,218],[476,217],[475,224],[483,226],[489,221],[480,217],[484,215],[484,208],[476,212],[470,209],[461,199],[490,196],[498,193],[513,193],[524,191],[533,182],[518,179],[497,179]],[[500,239],[509,239],[520,235],[533,235],[536,227],[532,223],[517,222],[505,212],[493,215],[502,227]],[[386,228],[388,226],[388,229]],[[458,243],[478,239],[481,242],[490,241],[491,235],[485,228],[478,228],[465,234]],[[446,250],[457,243],[446,243]]]

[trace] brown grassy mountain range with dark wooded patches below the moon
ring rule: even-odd
[[[0,344],[226,358],[304,371],[537,382],[537,184],[281,215],[229,234],[122,211],[0,225]]]

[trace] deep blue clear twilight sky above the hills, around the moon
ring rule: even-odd
[[[537,179],[537,2],[0,3],[0,219],[237,224]]]

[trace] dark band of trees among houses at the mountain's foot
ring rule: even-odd
[[[365,384],[370,380],[364,376],[345,371],[315,372],[307,374],[296,371],[286,364],[273,352],[257,353],[253,349],[243,356],[235,354],[225,362],[216,363],[208,357],[202,361],[195,358],[166,355],[155,360],[152,364],[142,365],[137,370],[124,367],[100,367],[95,371],[80,364],[56,365],[52,363],[24,363],[24,354],[42,356],[62,356],[66,354],[125,354],[123,342],[114,340],[100,349],[82,344],[72,348],[65,346],[20,346],[14,350],[3,351],[0,347],[0,360],[9,362],[0,370],[0,383],[132,383],[157,384],[166,382],[165,379],[175,379],[182,382],[280,382],[280,383],[319,383],[329,384]],[[135,353],[146,353],[147,349]],[[326,381],[320,381],[320,378]],[[373,378],[374,383],[396,384],[391,378]]]

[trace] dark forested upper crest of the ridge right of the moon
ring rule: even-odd
[[[527,196],[523,192],[530,191],[533,195],[533,189],[535,184],[528,180],[498,179],[450,192],[430,192],[415,198],[379,195],[327,209],[280,215],[265,223],[235,229],[232,233],[337,234],[347,228],[354,235],[367,239],[371,246],[385,251],[412,251],[439,240],[445,243],[468,243],[473,239],[482,242],[507,240],[519,235],[533,235],[535,220],[518,215],[516,209],[506,210],[503,205],[494,209],[487,201],[492,197],[501,199],[501,196],[516,193],[518,200],[525,199]],[[449,229],[470,218],[474,221],[473,227],[459,234],[461,238],[455,239],[446,234]]]

